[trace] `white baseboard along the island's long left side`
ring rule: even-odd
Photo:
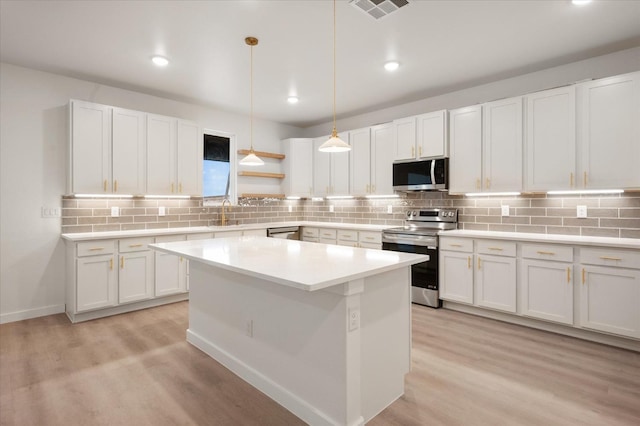
[[[337,424],[335,420],[300,399],[288,389],[283,388],[264,374],[191,330],[187,330],[187,342],[227,367],[245,382],[260,390],[308,424],[327,426]],[[360,419],[362,420],[362,418]],[[358,424],[364,424],[364,421]]]

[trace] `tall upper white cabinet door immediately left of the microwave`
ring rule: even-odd
[[[393,195],[393,125],[371,128],[371,192]]]

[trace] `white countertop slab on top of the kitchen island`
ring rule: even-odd
[[[178,241],[149,247],[306,291],[424,262],[429,256],[267,237]]]

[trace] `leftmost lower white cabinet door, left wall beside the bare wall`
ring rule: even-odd
[[[114,256],[76,260],[76,312],[106,308],[117,303]]]

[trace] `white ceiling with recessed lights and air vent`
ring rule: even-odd
[[[635,0],[409,1],[376,21],[338,0],[339,117],[640,45]],[[2,0],[0,60],[248,114],[255,36],[255,116],[305,127],[331,118],[332,23],[331,0]]]

